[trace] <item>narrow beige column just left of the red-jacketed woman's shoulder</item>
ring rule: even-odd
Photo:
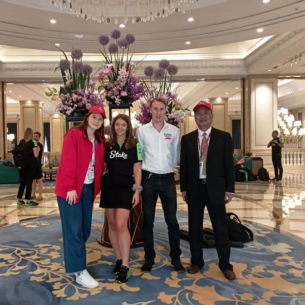
[[[51,152],[61,152],[63,137],[66,133],[65,117],[62,113],[51,113],[50,116],[50,144]]]

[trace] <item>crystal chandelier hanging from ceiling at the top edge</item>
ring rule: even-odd
[[[86,20],[110,23],[110,17],[113,16],[115,24],[117,18],[123,16],[126,24],[128,16],[132,16],[131,22],[135,23],[153,21],[157,17],[165,18],[179,11],[184,14],[185,7],[194,2],[197,4],[198,0],[50,0],[51,5]]]

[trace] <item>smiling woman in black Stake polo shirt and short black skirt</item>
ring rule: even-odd
[[[125,283],[130,277],[128,267],[130,234],[127,221],[130,210],[139,203],[140,199],[141,161],[141,147],[133,136],[130,118],[125,114],[119,114],[111,125],[110,141],[106,142],[107,169],[102,176],[99,205],[106,209],[109,239],[117,258],[113,273],[117,274],[118,283]]]

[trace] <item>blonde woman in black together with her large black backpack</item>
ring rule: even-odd
[[[26,206],[38,206],[37,202],[31,200],[32,183],[35,177],[36,164],[38,163],[38,153],[40,147],[33,140],[33,130],[27,128],[24,131],[24,138],[13,149],[15,166],[20,167],[21,181],[18,189],[17,204]],[[25,201],[22,199],[25,190]]]

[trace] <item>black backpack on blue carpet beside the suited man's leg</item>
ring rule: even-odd
[[[231,218],[233,216],[233,218]],[[229,240],[236,242],[252,242],[252,231],[244,226],[239,217],[234,213],[227,213],[227,227]]]

